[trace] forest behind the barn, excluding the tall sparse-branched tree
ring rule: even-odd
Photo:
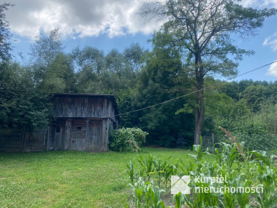
[[[1,19],[8,6],[1,5]],[[2,40],[10,39],[8,21],[1,24]],[[195,78],[184,51],[168,49],[166,40],[167,33],[154,33],[150,40],[152,51],[132,44],[122,52],[112,49],[104,53],[85,46],[66,53],[59,30],[54,29],[41,33],[30,44],[30,58],[24,64],[13,60],[12,46],[4,41],[0,50],[0,130],[48,125],[49,100],[55,93],[114,94],[122,114],[194,92]],[[229,77],[235,74],[230,73]],[[277,81],[224,82],[206,76],[204,87],[211,85],[215,87],[204,91],[202,135],[222,135],[218,130],[222,126],[244,140],[256,139],[256,145],[267,141],[268,135],[276,137]],[[194,143],[194,107],[195,94],[190,94],[123,114],[120,127],[139,127],[149,132],[147,144],[190,146]]]

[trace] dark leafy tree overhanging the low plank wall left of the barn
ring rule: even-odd
[[[17,63],[0,63],[0,130],[48,123],[48,96],[36,89],[32,73]]]

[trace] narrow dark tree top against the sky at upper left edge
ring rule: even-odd
[[[10,33],[10,23],[6,20],[6,14],[4,13],[9,6],[13,5],[11,3],[0,4],[0,61],[9,60],[11,57],[12,45],[9,40],[12,35]]]

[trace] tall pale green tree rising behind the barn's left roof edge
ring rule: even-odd
[[[35,85],[42,92],[75,92],[73,58],[64,53],[59,29],[37,36],[29,54]]]

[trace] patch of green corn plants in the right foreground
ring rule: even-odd
[[[167,193],[171,175],[190,175],[191,178],[190,195],[180,192],[173,197],[177,208],[183,205],[193,208],[246,208],[250,204],[262,208],[277,207],[277,156],[273,153],[267,155],[265,151],[244,152],[244,145],[227,133],[232,142],[221,143],[222,148],[215,149],[214,162],[203,161],[204,155],[208,153],[202,151],[201,145],[193,146],[195,154],[188,155],[194,158],[194,162],[187,162],[188,157],[169,162],[170,158],[161,161],[152,155],[145,159],[139,156],[139,180],[148,180],[135,183],[139,185],[134,184],[138,172],[134,170],[132,163],[129,163],[127,173],[133,184],[136,207],[165,207],[161,195],[163,192]],[[199,181],[196,177],[209,179]],[[212,177],[224,178],[224,182],[215,182]],[[253,191],[256,187],[262,188],[263,192]],[[222,188],[223,192],[218,191]],[[205,189],[208,191],[203,191]],[[247,189],[251,191],[245,191]]]

